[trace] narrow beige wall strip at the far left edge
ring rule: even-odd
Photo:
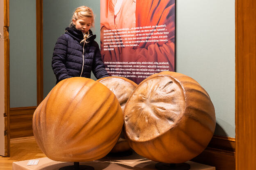
[[[0,0],[0,155],[5,155],[5,123],[3,114],[5,112],[5,75],[4,75],[4,1]]]

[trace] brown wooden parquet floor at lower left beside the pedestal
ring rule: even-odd
[[[11,139],[11,157],[0,156],[0,170],[12,170],[14,161],[46,157],[39,149],[34,136]]]

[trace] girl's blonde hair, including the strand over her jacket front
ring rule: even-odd
[[[94,13],[91,10],[91,8],[86,7],[86,6],[81,6],[75,9],[75,12],[73,13],[72,19],[71,19],[71,23],[69,25],[69,27],[73,27],[73,20],[78,20],[79,18],[82,17],[90,17],[91,18],[91,27],[94,27]],[[85,42],[88,43],[89,41],[87,41],[87,39],[90,37],[90,33],[88,31],[87,34],[84,34],[84,39],[80,42]]]

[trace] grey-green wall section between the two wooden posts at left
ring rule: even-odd
[[[36,1],[10,0],[9,22],[10,107],[36,106]]]

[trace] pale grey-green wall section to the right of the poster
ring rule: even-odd
[[[176,1],[177,72],[206,89],[215,134],[235,137],[235,0]]]

